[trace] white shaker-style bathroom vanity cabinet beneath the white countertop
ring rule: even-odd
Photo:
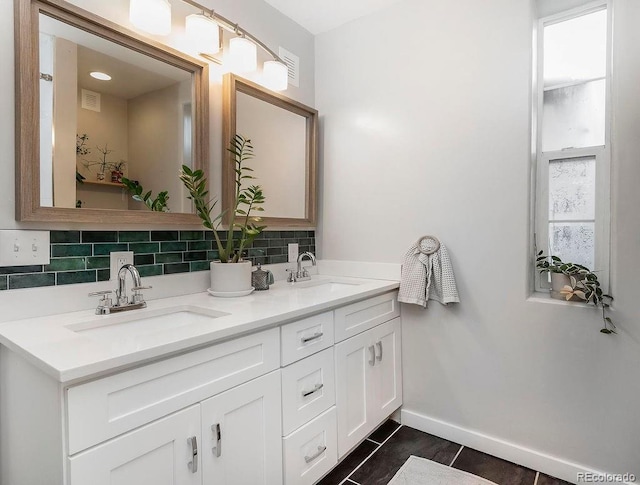
[[[402,404],[396,298],[70,384],[2,346],[0,485],[312,485]]]

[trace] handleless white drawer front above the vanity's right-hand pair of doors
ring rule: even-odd
[[[335,310],[335,341],[341,342],[399,315],[397,291],[338,308]]]

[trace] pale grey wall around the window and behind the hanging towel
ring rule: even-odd
[[[593,308],[527,300],[526,0],[406,0],[316,38],[320,247],[326,259],[397,263],[420,235],[447,245],[462,303],[403,306],[405,409],[640,475],[640,5],[616,7],[619,335],[598,332]]]

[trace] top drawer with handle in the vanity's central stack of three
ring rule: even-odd
[[[333,312],[321,313],[282,326],[282,365],[333,345]]]

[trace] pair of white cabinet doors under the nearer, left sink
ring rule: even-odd
[[[78,453],[69,459],[69,483],[277,485],[279,415],[275,371]]]

